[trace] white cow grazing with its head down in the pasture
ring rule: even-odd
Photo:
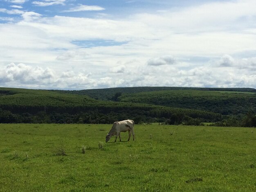
[[[110,131],[106,136],[106,142],[108,142],[110,138],[114,135],[116,136],[115,142],[117,141],[117,135],[119,136],[119,139],[121,141],[120,132],[127,132],[127,131],[129,132],[128,141],[130,140],[131,132],[132,132],[132,137],[134,141],[133,127],[134,127],[134,122],[132,120],[117,121],[113,123],[112,128],[110,129]]]

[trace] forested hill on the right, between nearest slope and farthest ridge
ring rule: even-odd
[[[200,109],[222,115],[256,112],[256,93],[234,91],[166,90],[122,94],[118,100],[184,109]]]

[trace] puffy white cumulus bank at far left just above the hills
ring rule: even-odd
[[[101,83],[103,81],[101,80]],[[16,85],[17,87],[61,87],[66,88],[70,85],[87,85],[95,83],[88,79],[86,74],[74,74],[74,72],[63,72],[60,76],[53,69],[46,67],[32,67],[25,64],[11,63],[0,69],[0,86]],[[80,87],[81,88],[81,87]]]

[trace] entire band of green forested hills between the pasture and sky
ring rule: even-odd
[[[131,118],[135,123],[255,126],[255,114],[256,89],[250,88],[0,88],[0,123],[113,123]]]

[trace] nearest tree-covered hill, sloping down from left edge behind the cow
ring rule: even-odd
[[[47,90],[0,88],[0,123],[135,123],[166,121],[195,124],[220,114],[144,103],[113,102]]]

